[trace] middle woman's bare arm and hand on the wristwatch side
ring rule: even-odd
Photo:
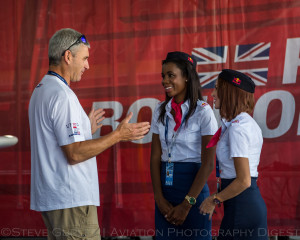
[[[209,175],[214,168],[215,147],[206,148],[206,145],[212,138],[211,135],[202,136],[202,150],[201,150],[201,167],[196,174],[193,184],[188,192],[188,196],[197,198],[202,191]],[[172,215],[167,217],[167,220],[175,225],[181,225],[188,215],[191,205],[184,199],[181,204],[177,205],[172,210]]]

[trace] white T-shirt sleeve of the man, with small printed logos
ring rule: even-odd
[[[52,111],[53,128],[59,146],[84,141],[80,103],[77,99],[64,95],[58,100]]]

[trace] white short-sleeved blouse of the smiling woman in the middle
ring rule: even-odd
[[[171,145],[172,136],[175,135],[174,127],[175,121],[171,114],[171,101],[166,105],[166,114],[164,122],[166,123],[166,115],[169,118],[168,124],[168,144]],[[168,161],[168,147],[165,141],[165,128],[158,117],[159,108],[163,102],[159,103],[154,111],[150,131],[159,134],[159,139],[162,148],[161,161]],[[181,105],[182,116],[184,117],[189,109],[189,100]],[[197,107],[192,116],[179,128],[177,131],[174,146],[171,151],[172,162],[201,162],[201,138],[206,135],[214,135],[217,131],[218,125],[214,113],[204,101],[198,100]]]

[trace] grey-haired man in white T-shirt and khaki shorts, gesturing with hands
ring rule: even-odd
[[[48,239],[101,239],[96,157],[120,141],[137,140],[150,124],[128,123],[98,139],[103,109],[86,115],[70,88],[89,69],[89,43],[73,29],[57,31],[49,41],[49,71],[29,104],[31,139],[30,208],[42,213]]]

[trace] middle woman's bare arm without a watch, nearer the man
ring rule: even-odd
[[[151,144],[151,159],[150,159],[152,187],[154,193],[154,200],[161,213],[165,216],[168,215],[168,213],[173,208],[173,206],[164,198],[162,193],[161,179],[160,179],[161,154],[162,154],[162,150],[161,150],[159,135],[153,134],[152,144]]]

